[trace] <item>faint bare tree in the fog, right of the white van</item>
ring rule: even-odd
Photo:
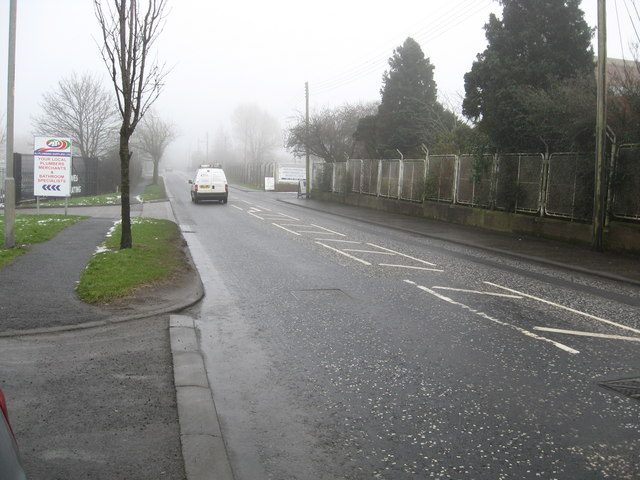
[[[257,105],[237,107],[231,120],[245,163],[264,162],[267,155],[282,144],[278,121]]]

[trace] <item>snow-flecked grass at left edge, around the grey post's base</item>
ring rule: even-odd
[[[27,251],[29,245],[46,242],[61,230],[82,220],[74,215],[16,215],[14,224],[15,247],[0,249],[0,268],[13,262]],[[4,246],[4,217],[0,218],[0,237]]]

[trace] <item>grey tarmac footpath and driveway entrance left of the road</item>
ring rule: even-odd
[[[86,305],[75,296],[76,282],[120,207],[69,208],[68,214],[91,218],[0,270],[0,388],[28,478],[199,480],[210,478],[197,474],[213,471],[212,458],[226,471],[224,449],[213,457],[212,437],[201,434],[202,426],[183,435],[178,416],[194,405],[204,408],[207,398],[208,411],[215,411],[206,374],[193,361],[199,352],[185,350],[184,336],[176,335],[188,321],[169,333],[168,313],[202,297],[198,275],[116,316]],[[133,205],[132,216],[173,220],[169,202]],[[204,388],[193,388],[194,378]]]

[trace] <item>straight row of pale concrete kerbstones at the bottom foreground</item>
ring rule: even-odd
[[[185,315],[171,315],[169,331],[187,478],[233,480],[194,321]]]

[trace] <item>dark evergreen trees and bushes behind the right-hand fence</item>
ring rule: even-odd
[[[286,146],[325,161],[481,152],[592,151],[596,79],[593,29],[580,0],[501,0],[485,25],[487,48],[465,74],[462,117],[438,99],[434,65],[412,38],[389,59],[377,105],[299,114]],[[608,126],[640,141],[640,64],[609,74]]]

